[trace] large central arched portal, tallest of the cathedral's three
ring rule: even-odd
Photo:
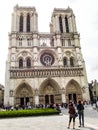
[[[45,80],[39,89],[39,103],[40,104],[59,104],[61,103],[60,87],[53,79]]]

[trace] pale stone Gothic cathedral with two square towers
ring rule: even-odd
[[[42,24],[44,28],[44,22]],[[80,35],[71,8],[54,8],[50,32],[38,31],[35,7],[13,8],[4,105],[89,101]]]

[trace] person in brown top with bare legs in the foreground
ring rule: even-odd
[[[70,124],[71,124],[71,121],[73,119],[73,129],[75,129],[75,107],[73,106],[73,103],[69,103],[69,106],[68,106],[68,113],[69,113],[69,124],[68,124],[68,129],[70,129]]]

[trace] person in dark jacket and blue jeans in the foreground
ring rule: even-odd
[[[84,105],[81,103],[81,101],[78,102],[77,110],[79,114],[79,127],[84,127]]]

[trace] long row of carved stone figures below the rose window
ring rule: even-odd
[[[82,67],[10,68],[10,78],[83,76]]]

